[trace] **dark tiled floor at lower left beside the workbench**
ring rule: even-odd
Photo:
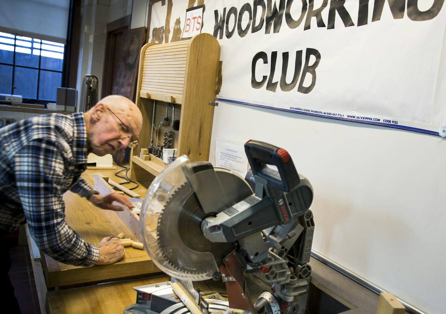
[[[18,244],[17,233],[17,237],[12,236],[8,239],[8,246],[11,256],[9,278],[14,286],[14,294],[19,302],[20,310],[22,314],[40,314],[28,245]]]

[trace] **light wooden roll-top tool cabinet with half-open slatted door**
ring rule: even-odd
[[[167,165],[150,156],[142,160],[141,148],[163,145],[164,132],[173,131],[173,148],[177,156],[191,161],[207,161],[212,131],[220,46],[211,34],[202,33],[190,40],[167,44],[148,43],[140,53],[136,104],[143,114],[139,145],[131,157],[131,177],[151,181]],[[172,109],[180,120],[179,131],[172,130]],[[160,126],[166,116],[168,126]],[[154,127],[160,127],[155,132]],[[153,134],[152,134],[153,129]]]

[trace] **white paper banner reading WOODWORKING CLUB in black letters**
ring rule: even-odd
[[[151,40],[180,40],[187,9],[153,4]],[[217,100],[446,136],[444,0],[206,0],[201,23]]]

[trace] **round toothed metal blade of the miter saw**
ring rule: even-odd
[[[252,190],[242,177],[227,169],[215,169],[229,206],[252,195]],[[206,189],[206,187],[200,187]],[[212,193],[212,191],[209,191]],[[203,219],[216,215],[223,209],[205,214],[200,202],[187,182],[169,196],[158,218],[157,241],[164,260],[178,273],[196,275],[219,271],[224,256],[234,249],[233,243],[213,243],[201,230]]]

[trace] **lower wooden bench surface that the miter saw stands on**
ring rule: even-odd
[[[379,296],[364,288],[314,258],[310,259],[312,276],[306,314],[376,314]],[[122,314],[136,302],[133,287],[168,281],[169,277],[157,276],[116,281],[102,285],[64,289],[48,292],[47,313]],[[248,281],[252,302],[268,286]],[[200,281],[194,284],[201,291],[225,291],[222,281]]]

